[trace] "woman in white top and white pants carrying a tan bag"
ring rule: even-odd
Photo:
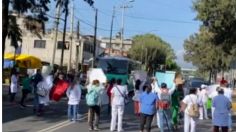
[[[197,90],[192,88],[189,90],[189,95],[182,100],[181,111],[184,112],[184,132],[196,131],[196,119],[189,115],[189,109],[192,104],[198,104]],[[190,129],[189,129],[190,127]]]

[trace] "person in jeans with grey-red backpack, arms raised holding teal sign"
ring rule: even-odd
[[[157,87],[156,88],[156,93],[158,94],[159,97],[159,102],[158,102],[158,114],[159,116],[159,124],[157,124],[160,128],[161,132],[164,132],[164,122],[166,122],[167,127],[169,130],[172,129],[172,123],[171,123],[171,95],[176,89],[176,85],[174,83],[173,87],[171,89],[167,88],[166,83],[161,83],[161,88]]]

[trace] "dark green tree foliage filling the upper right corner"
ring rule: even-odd
[[[212,32],[212,42],[227,54],[236,48],[236,0],[196,0],[197,20]]]

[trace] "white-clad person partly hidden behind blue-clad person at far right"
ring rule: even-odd
[[[224,96],[226,96],[229,101],[232,103],[232,94],[233,91],[227,87],[227,81],[220,84],[221,88],[224,90]],[[228,121],[229,131],[232,131],[232,111],[229,112],[229,121]]]

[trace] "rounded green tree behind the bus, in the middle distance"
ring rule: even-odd
[[[150,71],[155,70],[160,65],[166,65],[167,60],[170,62],[175,59],[171,46],[153,34],[134,36],[129,56],[142,62],[142,64],[145,63],[147,70]]]

